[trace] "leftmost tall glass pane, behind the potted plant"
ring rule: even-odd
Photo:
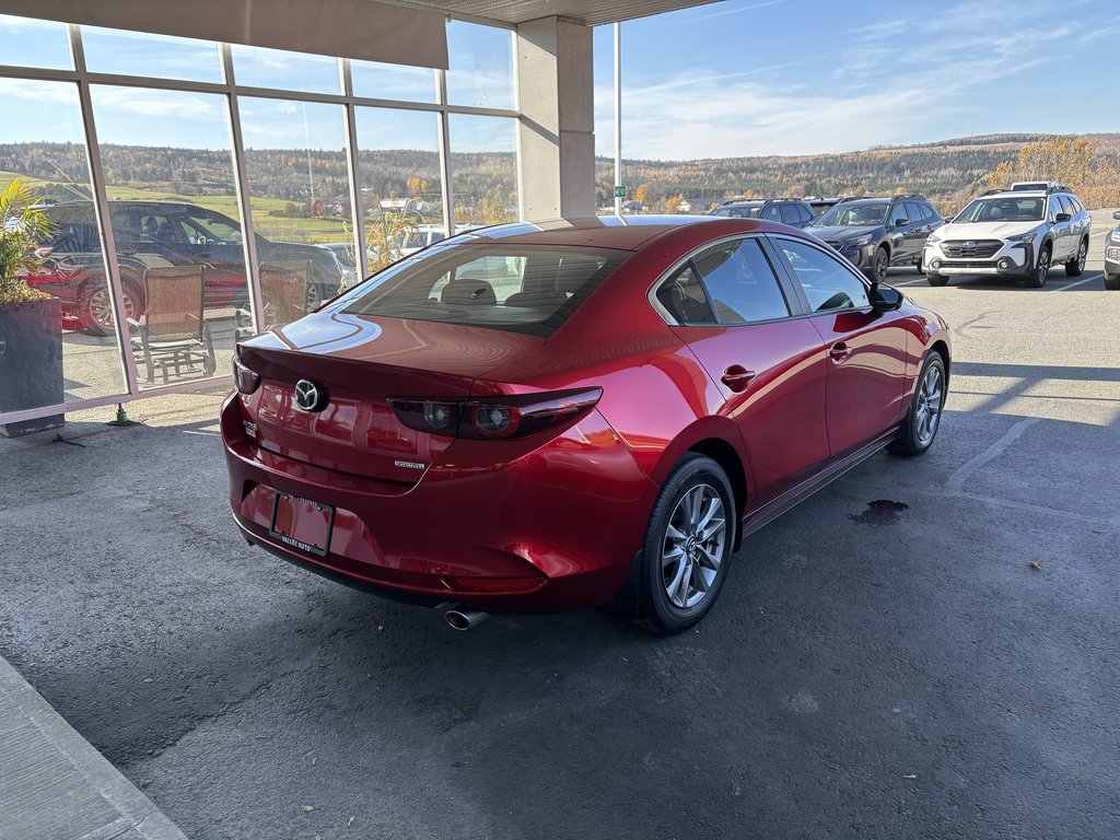
[[[0,244],[37,255],[15,273],[49,296],[17,298],[12,277],[0,274],[0,412],[119,393],[125,390],[124,375],[77,85],[0,78],[0,189],[19,179],[46,221],[18,239],[28,228],[16,221],[19,207],[13,208],[11,221],[0,222]]]

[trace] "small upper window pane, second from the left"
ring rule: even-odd
[[[222,81],[217,44],[213,41],[84,26],[82,48],[91,73]]]

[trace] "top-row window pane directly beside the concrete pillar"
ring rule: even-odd
[[[447,101],[513,108],[513,32],[452,20],[447,25]]]

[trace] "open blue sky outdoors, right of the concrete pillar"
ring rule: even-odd
[[[1120,0],[730,0],[627,21],[623,156],[1120,131]],[[614,157],[614,34],[595,32]]]

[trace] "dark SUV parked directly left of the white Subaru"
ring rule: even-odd
[[[926,237],[944,223],[923,196],[896,195],[841,199],[805,230],[881,281],[892,265],[918,265]]]

